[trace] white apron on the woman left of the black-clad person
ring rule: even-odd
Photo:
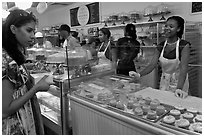
[[[99,51],[103,47],[103,45],[104,45],[104,42],[101,44]],[[109,46],[110,46],[110,41],[108,41],[108,44],[107,44],[104,51],[101,51],[101,52],[98,51],[99,64],[111,63],[111,61],[108,58],[106,58],[106,56],[105,56],[105,53],[106,53]]]

